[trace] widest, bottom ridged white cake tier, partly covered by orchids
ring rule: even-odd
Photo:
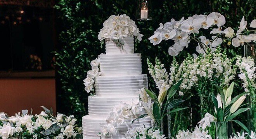
[[[131,124],[133,119],[125,119],[125,122],[117,128],[117,134],[111,137],[103,136],[101,139],[125,139],[125,133],[128,129],[134,127],[151,127],[152,120],[150,117],[144,117],[142,119],[135,120]],[[107,124],[105,118],[94,118],[86,115],[83,117],[83,139],[100,139],[97,135],[101,132],[102,127]]]

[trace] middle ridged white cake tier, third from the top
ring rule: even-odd
[[[101,97],[138,96],[147,88],[147,75],[99,76],[95,79],[96,95]]]

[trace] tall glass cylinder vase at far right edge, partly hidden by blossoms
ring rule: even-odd
[[[251,57],[256,63],[256,44],[244,45],[244,56]],[[246,97],[247,107],[250,110],[247,111],[247,128],[249,130],[256,129],[256,94],[253,90],[249,90],[249,95]]]

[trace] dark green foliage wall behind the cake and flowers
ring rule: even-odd
[[[57,27],[61,29],[60,48],[56,52],[56,65],[61,90],[58,94],[58,110],[66,114],[74,114],[81,119],[88,113],[88,93],[84,90],[83,79],[90,69],[90,61],[105,49],[100,48],[97,34],[103,22],[112,14],[126,14],[135,20],[138,0],[58,0],[55,6],[59,16]],[[225,15],[227,26],[238,27],[242,16],[248,21],[255,18],[255,0],[150,0],[152,2],[152,21],[137,22],[144,37],[137,45],[135,53],[142,54],[142,72],[148,73],[146,59],[154,61],[157,56],[163,64],[170,66],[172,57],[168,55],[171,41],[164,41],[153,46],[149,38],[160,22],[168,22],[194,14],[220,12]],[[193,46],[193,44],[190,44]],[[195,44],[196,46],[196,44]],[[185,49],[177,56],[181,61],[187,53],[195,53],[194,47]],[[242,54],[235,48],[230,54]],[[168,67],[166,67],[168,69]],[[152,79],[149,84],[154,85]]]

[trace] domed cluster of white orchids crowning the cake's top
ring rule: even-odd
[[[99,32],[98,39],[100,41],[104,39],[118,40],[127,36],[135,36],[138,41],[141,41],[141,37],[143,37],[137,25],[129,16],[126,14],[111,15],[103,23],[103,28]]]

